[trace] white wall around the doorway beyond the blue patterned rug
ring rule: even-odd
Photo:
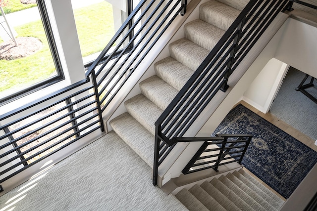
[[[249,86],[243,100],[267,113],[289,65],[317,77],[317,28],[288,18],[275,54]]]

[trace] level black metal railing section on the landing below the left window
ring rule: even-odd
[[[102,128],[95,99],[85,80],[1,115],[0,183]]]

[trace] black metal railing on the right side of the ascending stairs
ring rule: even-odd
[[[226,91],[230,75],[283,10],[288,0],[250,0],[156,125],[153,184],[158,168],[215,94]],[[189,138],[193,139],[193,138]]]

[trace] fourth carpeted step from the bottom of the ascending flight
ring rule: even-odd
[[[155,72],[159,78],[180,90],[194,71],[172,57],[166,57],[154,64]]]

